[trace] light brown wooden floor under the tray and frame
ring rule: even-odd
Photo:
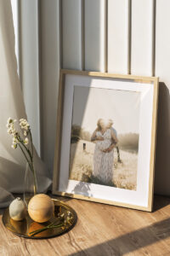
[[[30,240],[14,236],[0,221],[0,256],[170,255],[170,198],[155,196],[152,213],[68,198],[63,201],[77,212],[73,230],[48,240]]]

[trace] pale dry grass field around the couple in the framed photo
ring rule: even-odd
[[[83,144],[86,145],[84,150]],[[70,178],[86,183],[105,184],[93,177],[95,143],[80,139],[71,143]],[[124,149],[125,148],[125,149]],[[138,152],[124,147],[120,149],[122,162],[118,162],[116,148],[114,149],[114,165],[112,183],[105,184],[120,189],[136,190]]]

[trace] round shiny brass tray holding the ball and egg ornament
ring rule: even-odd
[[[50,238],[54,236],[60,236],[65,232],[71,230],[74,225],[77,223],[77,213],[68,205],[66,205],[62,201],[54,200],[54,217],[50,218],[48,222],[45,223],[37,223],[34,222],[29,215],[26,216],[25,219],[21,221],[14,221],[9,216],[8,208],[3,212],[3,225],[13,232],[17,236],[22,236],[25,238],[31,239],[42,239],[42,238]],[[49,224],[60,224],[59,227],[43,230],[37,235],[32,236],[32,231],[42,229]],[[31,233],[31,234],[30,234]]]

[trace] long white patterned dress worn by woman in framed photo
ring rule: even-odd
[[[97,137],[104,137],[103,141],[97,141],[94,149],[94,177],[103,183],[111,183],[113,179],[113,154],[114,151],[105,153],[102,150],[111,146],[111,129],[102,134],[96,132]]]

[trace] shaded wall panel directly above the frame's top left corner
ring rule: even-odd
[[[62,66],[82,69],[82,0],[62,1]]]

